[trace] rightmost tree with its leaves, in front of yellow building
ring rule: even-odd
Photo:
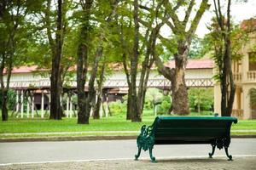
[[[236,34],[236,39],[233,38],[234,27],[231,26],[230,6],[231,0],[221,4],[219,0],[213,0],[215,21],[213,22],[212,38],[214,47],[213,59],[218,66],[218,79],[221,89],[221,116],[231,116],[233,103],[235,99],[236,86],[233,80],[231,68],[231,59],[236,57],[236,47],[239,47],[242,38],[241,32]],[[223,7],[226,9],[223,11]],[[225,15],[226,14],[226,15]],[[241,47],[241,46],[240,46]]]

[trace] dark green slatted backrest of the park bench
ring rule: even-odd
[[[155,144],[207,144],[230,137],[235,117],[158,116],[154,120]]]

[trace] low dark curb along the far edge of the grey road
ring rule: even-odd
[[[231,138],[251,139],[256,135],[232,135]],[[20,138],[20,139],[0,139],[3,142],[52,142],[52,141],[86,141],[86,140],[125,140],[137,139],[137,135],[127,136],[79,136],[79,137],[44,137],[44,138]]]

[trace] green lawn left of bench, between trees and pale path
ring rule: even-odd
[[[0,122],[0,133],[42,133],[42,132],[82,132],[82,131],[138,131],[143,124],[151,124],[154,117],[143,122],[126,121],[125,117],[104,117],[90,119],[89,125],[77,124],[77,118],[63,118],[61,121],[49,119],[10,119]]]

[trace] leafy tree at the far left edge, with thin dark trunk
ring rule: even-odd
[[[29,3],[20,0],[0,3],[0,82],[2,93],[2,120],[8,120],[8,91],[11,72],[14,65],[21,62],[21,53],[26,48],[25,17],[28,13]],[[25,38],[26,37],[26,38]],[[18,51],[20,56],[18,57]],[[6,76],[5,82],[3,76]]]

